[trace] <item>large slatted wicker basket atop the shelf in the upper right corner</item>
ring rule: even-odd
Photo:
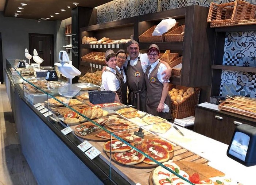
[[[207,22],[240,21],[255,18],[256,6],[243,0],[231,3],[211,3]]]

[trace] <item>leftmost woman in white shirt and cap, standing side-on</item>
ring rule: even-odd
[[[108,65],[102,73],[102,87],[107,91],[118,91],[120,89],[120,82],[116,76],[116,54],[113,50],[107,50],[105,53],[105,62]],[[115,100],[120,102],[118,95],[116,94]]]

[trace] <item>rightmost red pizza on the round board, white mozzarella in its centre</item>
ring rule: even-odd
[[[146,153],[152,159],[155,159],[159,163],[164,163],[169,160],[170,153],[161,145],[146,144],[141,147],[141,151]],[[156,163],[151,159],[145,158],[143,163],[155,165]]]

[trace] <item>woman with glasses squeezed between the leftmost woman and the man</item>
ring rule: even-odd
[[[116,93],[119,96],[120,102],[127,105],[127,78],[125,75],[125,67],[123,66],[127,57],[123,49],[117,51],[116,58],[116,75],[120,82],[120,88],[116,91]]]

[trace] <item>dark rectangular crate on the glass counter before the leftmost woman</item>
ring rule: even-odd
[[[92,104],[113,103],[116,93],[113,91],[92,91],[89,92],[89,101]]]

